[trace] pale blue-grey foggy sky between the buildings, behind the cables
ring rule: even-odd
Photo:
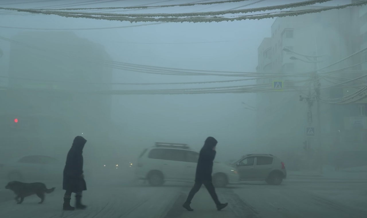
[[[50,1],[49,3],[19,3],[24,0],[1,0],[0,7],[36,8],[59,4],[84,2]],[[263,7],[292,3],[296,0],[263,1],[249,7]],[[77,7],[119,7],[147,4],[156,1],[125,0],[91,4]],[[192,1],[167,1],[159,4],[188,3]],[[346,4],[350,1],[332,1],[321,5]],[[190,12],[227,10],[245,3],[204,5],[193,7],[157,8],[127,11],[128,13]],[[320,4],[316,4],[320,5]],[[67,6],[72,7],[73,5]],[[62,6],[60,6],[62,7]],[[66,7],[66,6],[65,6]],[[206,8],[206,9],[205,9]],[[179,10],[179,11],[178,11]],[[1,12],[1,11],[0,11]],[[64,18],[56,15],[1,15],[0,26],[27,28],[99,28],[129,26],[141,23],[99,21],[84,18]],[[24,16],[21,16],[22,14]],[[255,72],[257,48],[264,37],[270,37],[270,26],[275,19],[245,20],[213,23],[163,23],[120,29],[75,30],[75,33],[90,41],[102,44],[114,61],[171,68],[225,70]],[[11,38],[29,30],[0,28],[0,36]],[[34,30],[37,31],[37,30]],[[140,44],[140,43],[190,43],[230,41],[195,44]],[[0,75],[7,76],[10,43],[0,41],[4,55],[0,58]],[[226,80],[233,77],[214,76],[160,76],[145,73],[126,73],[114,69],[112,82],[156,83]],[[236,86],[255,83],[216,83],[197,85],[114,86],[115,89],[165,89],[181,87]],[[6,86],[6,80],[0,79]],[[218,139],[218,152],[233,156],[254,150],[255,111],[247,110],[241,102],[255,105],[255,94],[198,94],[198,95],[115,95],[112,103],[113,122],[123,127],[118,137],[124,145],[142,148],[156,141],[189,143],[198,150],[204,139]],[[252,146],[252,148],[250,148]],[[261,148],[259,148],[258,152]],[[226,151],[226,152],[225,152]]]

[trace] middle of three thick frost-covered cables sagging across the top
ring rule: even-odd
[[[239,10],[209,11],[209,12],[188,12],[188,13],[116,14],[116,13],[51,11],[51,10],[39,10],[39,9],[32,10],[32,9],[20,9],[20,8],[18,8],[17,11],[42,12],[44,14],[92,15],[92,16],[103,16],[103,17],[130,17],[130,18],[148,18],[148,17],[171,18],[173,17],[175,18],[175,17],[219,16],[219,15],[225,15],[225,14],[244,14],[244,13],[259,12],[259,11],[282,10],[286,8],[308,6],[308,5],[312,5],[316,3],[324,3],[327,1],[332,1],[332,0],[308,0],[308,1],[300,1],[296,3],[281,4],[281,5],[276,5],[276,6],[267,6],[267,7],[259,7],[259,8],[245,8],[245,9],[239,9]],[[3,9],[6,9],[6,8],[3,8]]]

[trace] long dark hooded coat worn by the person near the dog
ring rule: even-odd
[[[75,137],[73,145],[66,157],[63,172],[62,189],[71,192],[87,190],[86,181],[83,178],[83,148],[87,140],[81,136]]]

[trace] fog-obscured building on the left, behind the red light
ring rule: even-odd
[[[72,32],[14,36],[8,88],[1,91],[4,154],[26,155],[14,149],[26,146],[57,155],[76,135],[105,140],[111,97],[98,92],[110,90],[112,69],[103,61],[111,58],[101,45]]]

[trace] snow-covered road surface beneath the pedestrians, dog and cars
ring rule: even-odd
[[[349,172],[353,174],[350,179],[345,177],[345,172],[341,173],[340,178],[289,175],[280,186],[246,182],[217,189],[219,199],[229,202],[223,211],[215,210],[204,188],[193,199],[195,211],[189,212],[181,205],[192,184],[167,183],[162,187],[150,187],[135,184],[126,177],[89,182],[83,197],[88,208],[84,211],[62,211],[63,191],[59,186],[54,193],[47,195],[44,204],[37,204],[39,199],[31,196],[18,205],[9,190],[0,190],[0,217],[366,218],[367,177],[361,176],[366,172]]]

